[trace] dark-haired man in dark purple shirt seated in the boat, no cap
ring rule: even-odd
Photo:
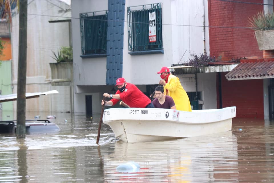
[[[155,108],[176,109],[174,100],[164,94],[164,87],[159,85],[155,88],[156,98],[152,101]]]

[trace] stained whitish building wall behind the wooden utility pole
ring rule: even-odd
[[[53,87],[50,84],[51,68],[49,63],[56,61],[52,51],[61,46],[69,46],[69,23],[49,23],[52,16],[59,16],[58,11],[70,9],[59,0],[29,0],[27,20],[27,87],[26,92],[45,92],[57,88],[59,94],[42,96],[27,100],[27,111],[70,111],[70,98],[66,86]],[[47,16],[49,15],[49,16]],[[18,74],[19,14],[12,17],[12,84],[13,93],[17,93]],[[64,101],[64,99],[68,101]],[[16,102],[14,102],[16,110]]]

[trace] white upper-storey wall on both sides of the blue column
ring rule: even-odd
[[[123,77],[134,84],[157,84],[159,75],[156,74],[163,66],[187,61],[191,53],[204,53],[203,1],[191,0],[139,0],[126,1],[126,8],[162,2],[162,32],[164,54],[130,55],[128,54],[128,27],[124,26]],[[207,1],[205,2],[207,6]],[[108,0],[102,1],[71,1],[72,17],[79,17],[80,13],[102,11],[108,9]],[[140,7],[142,8],[142,7]],[[206,8],[207,9],[207,8]],[[126,11],[126,10],[125,10]],[[207,21],[206,11],[206,25]],[[125,13],[127,21],[127,13]],[[72,42],[74,55],[74,83],[75,85],[105,85],[106,57],[81,58],[80,20],[72,19]],[[206,32],[208,40],[208,31]],[[209,42],[206,41],[206,49]],[[96,77],[94,79],[94,76]],[[148,79],[149,78],[149,79]],[[77,88],[75,92],[78,93]]]

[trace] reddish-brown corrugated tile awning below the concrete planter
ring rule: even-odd
[[[227,80],[274,78],[274,62],[242,62],[225,77]]]

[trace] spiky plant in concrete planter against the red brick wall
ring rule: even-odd
[[[259,12],[249,18],[251,28],[255,30],[255,37],[260,50],[274,49],[274,14]]]

